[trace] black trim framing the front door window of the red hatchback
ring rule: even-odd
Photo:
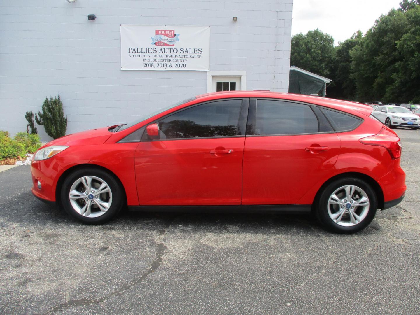
[[[156,142],[156,141],[176,141],[176,140],[197,140],[197,139],[225,139],[225,138],[243,138],[245,137],[245,133],[244,134],[238,134],[239,132],[242,133],[241,129],[244,130],[244,124],[246,124],[246,119],[247,119],[247,112],[248,112],[248,104],[249,104],[249,97],[226,97],[226,98],[221,98],[221,99],[217,99],[217,100],[210,100],[210,101],[206,101],[206,102],[201,102],[201,103],[197,103],[191,106],[187,106],[184,108],[181,108],[179,110],[176,110],[175,112],[169,113],[168,115],[165,115],[163,117],[160,117],[158,119],[156,119],[155,121],[152,121],[150,123],[148,123],[145,127],[147,128],[147,126],[152,125],[153,123],[157,123],[158,121],[161,121],[171,115],[174,115],[176,113],[182,112],[183,110],[189,109],[189,108],[193,108],[199,105],[204,105],[204,104],[208,104],[208,103],[214,103],[214,102],[220,102],[220,101],[225,101],[225,100],[241,100],[241,108],[239,110],[239,117],[238,117],[238,126],[236,128],[236,135],[235,136],[214,136],[214,137],[193,137],[193,138],[171,138],[171,139],[150,139],[149,136],[147,136],[147,132],[143,133],[142,139],[139,142]],[[243,112],[245,114],[243,114]],[[146,128],[144,130],[146,130]],[[135,132],[135,131],[134,131]]]

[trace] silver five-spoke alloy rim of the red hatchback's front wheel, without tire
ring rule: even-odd
[[[83,176],[77,179],[68,195],[73,209],[87,218],[105,214],[112,203],[110,186],[96,176]]]

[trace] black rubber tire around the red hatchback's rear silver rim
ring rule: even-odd
[[[333,192],[335,192],[340,187],[346,186],[346,185],[359,187],[365,192],[365,194],[367,195],[367,198],[369,199],[369,208],[367,210],[367,215],[365,216],[363,220],[361,220],[360,223],[357,223],[353,226],[341,226],[337,224],[336,222],[333,221],[333,219],[330,217],[328,213],[328,200],[332,196]],[[353,196],[355,195],[353,194]],[[330,205],[330,207],[333,207],[333,206]],[[354,208],[355,208],[354,211],[358,209],[357,207],[354,207]],[[315,213],[321,225],[324,228],[330,231],[339,233],[339,234],[352,234],[352,233],[356,233],[364,229],[366,226],[369,225],[370,222],[372,222],[373,218],[375,217],[377,208],[378,208],[378,198],[376,197],[375,192],[373,191],[372,187],[369,184],[367,184],[365,181],[359,178],[341,178],[341,179],[331,182],[325,188],[323,188],[323,192],[320,194],[319,198],[315,201]],[[346,211],[346,213],[348,213],[348,211],[346,210],[346,207],[344,208],[344,210]],[[349,215],[349,214],[346,214],[346,215]]]

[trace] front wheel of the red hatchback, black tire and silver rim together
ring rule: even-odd
[[[88,224],[112,219],[123,207],[121,184],[106,171],[81,168],[68,176],[61,189],[61,202],[66,212]]]

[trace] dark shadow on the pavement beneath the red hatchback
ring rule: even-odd
[[[48,226],[67,225],[85,226],[69,217],[63,209],[55,205],[45,204],[39,200],[34,200],[32,205],[26,208],[25,215],[17,215],[24,205],[16,205],[16,209],[8,209],[3,213],[3,218],[11,223],[25,223],[34,228]],[[15,212],[16,211],[16,212]],[[14,215],[10,213],[14,212]],[[9,214],[9,215],[8,215]],[[134,212],[123,209],[121,213],[108,223],[101,225],[104,230],[112,229],[145,229],[149,231],[161,231],[181,227],[188,227],[189,231],[203,233],[253,233],[253,234],[310,234],[318,236],[341,235],[325,231],[315,216],[311,214],[249,214],[249,213],[150,213]],[[373,220],[370,225],[357,235],[376,234],[381,230],[378,222]]]

